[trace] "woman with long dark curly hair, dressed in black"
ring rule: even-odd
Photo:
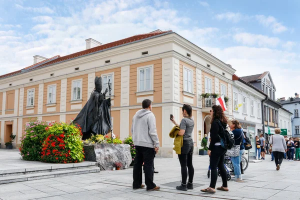
[[[213,105],[210,110],[211,127],[210,127],[210,143],[207,154],[209,155],[209,165],[211,171],[211,179],[209,187],[201,189],[202,192],[215,193],[215,184],[217,180],[217,168],[221,173],[222,186],[216,189],[228,191],[227,187],[227,172],[224,167],[224,155],[226,149],[221,146],[221,138],[224,138],[223,130],[227,126],[227,118],[224,115],[223,109],[219,105]]]

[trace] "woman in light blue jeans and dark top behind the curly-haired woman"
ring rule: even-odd
[[[244,145],[243,145],[244,134],[243,134],[243,131],[241,129],[241,126],[240,126],[238,120],[235,120],[235,119],[231,120],[230,129],[232,130],[232,133],[234,134],[235,145],[239,146],[238,156],[231,157],[233,168],[234,168],[234,176],[235,176],[235,179],[232,179],[232,180],[238,181],[238,180],[241,180],[241,170],[240,170],[241,155],[245,151]]]

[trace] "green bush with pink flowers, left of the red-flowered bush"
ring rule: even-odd
[[[21,136],[19,151],[24,160],[40,160],[41,146],[47,136],[45,128],[47,123],[40,120],[30,120],[25,125],[25,130]],[[10,136],[13,139],[13,136]],[[6,143],[5,143],[6,144]]]

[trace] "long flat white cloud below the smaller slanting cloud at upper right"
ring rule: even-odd
[[[276,47],[280,42],[278,37],[268,37],[266,35],[251,34],[247,32],[237,33],[233,36],[233,38],[237,42],[251,46],[258,45],[263,47]]]

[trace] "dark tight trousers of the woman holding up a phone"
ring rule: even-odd
[[[188,182],[191,183],[193,179],[194,168],[192,166],[192,153],[193,153],[193,141],[183,140],[183,144],[181,147],[181,154],[178,154],[178,158],[181,166],[182,184],[186,184],[187,174],[188,174]]]

